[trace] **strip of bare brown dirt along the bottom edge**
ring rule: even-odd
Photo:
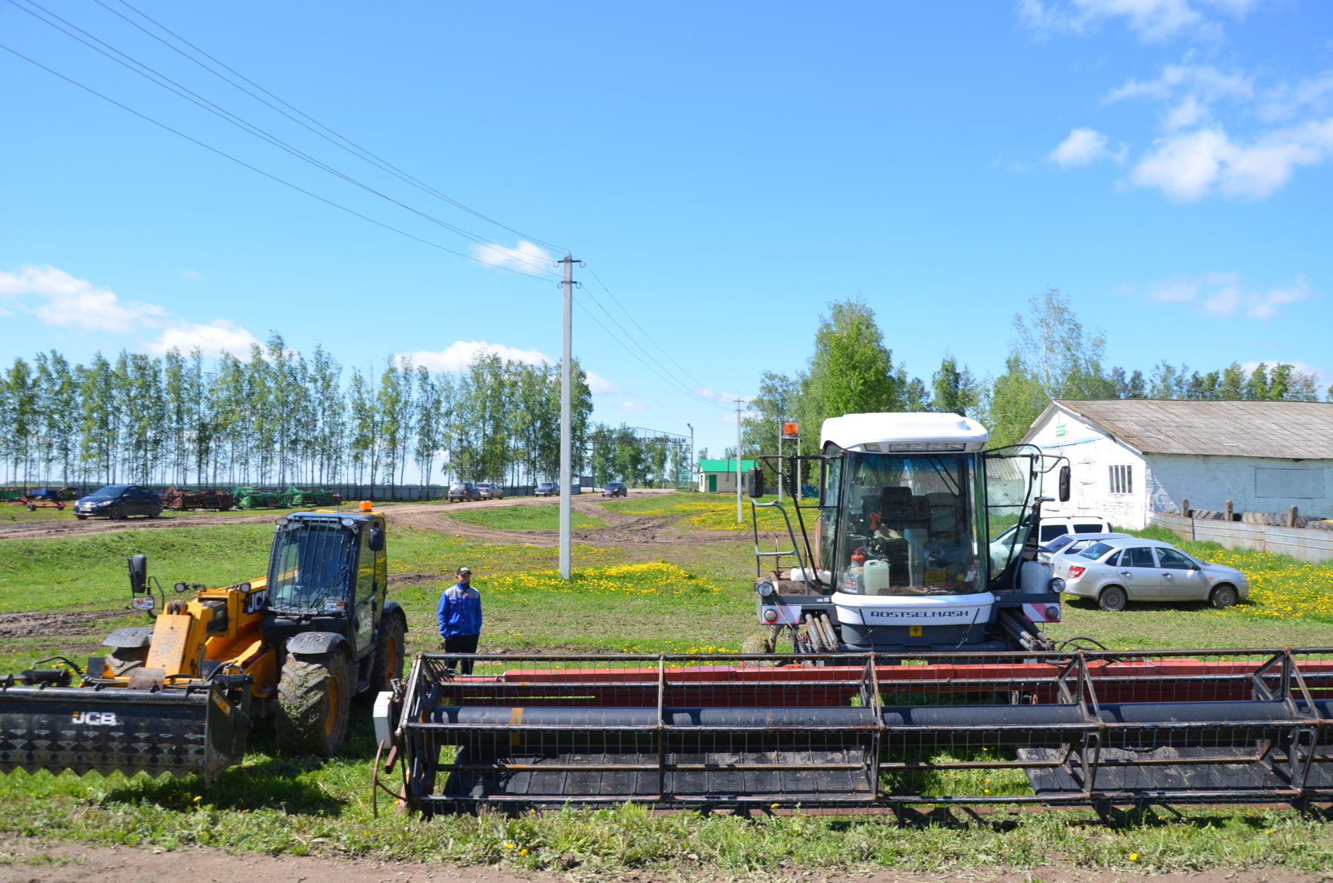
[[[373,859],[324,859],[313,856],[271,856],[260,854],[228,855],[221,850],[192,848],[177,852],[101,847],[83,844],[43,844],[32,839],[0,840],[0,883],[159,883],[172,878],[196,883],[425,883],[427,880],[475,880],[476,883],[520,883],[577,879],[575,868],[568,876],[552,874],[515,874],[491,867],[455,867],[376,862]],[[657,883],[698,879],[697,874],[664,875],[636,872],[597,875],[605,880]],[[732,875],[716,879],[733,880]],[[756,879],[746,875],[742,879]],[[944,883],[945,880],[989,880],[996,883],[1321,883],[1329,875],[1293,874],[1288,871],[1204,871],[1198,874],[1132,874],[1118,871],[1069,870],[1041,867],[1032,871],[996,874],[977,870],[941,870],[929,875],[898,875],[880,871],[873,875],[834,875],[818,871],[786,870],[774,880],[865,880],[866,883]]]

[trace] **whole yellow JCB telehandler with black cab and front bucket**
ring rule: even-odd
[[[135,555],[129,586],[151,627],[115,630],[87,668],[33,666],[0,680],[0,771],[207,780],[240,759],[256,719],[272,720],[280,751],[327,758],[347,736],[353,696],[403,675],[407,619],[385,596],[384,518],[369,510],[279,519],[257,579],[180,582],[168,600]]]

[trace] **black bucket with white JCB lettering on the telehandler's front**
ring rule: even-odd
[[[245,750],[248,683],[239,675],[148,691],[0,682],[0,772],[171,772],[208,782]]]

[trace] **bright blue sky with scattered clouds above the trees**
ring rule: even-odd
[[[491,265],[540,275],[524,261],[559,247],[588,261],[577,300],[609,328],[576,308],[595,416],[692,423],[714,452],[734,431],[724,400],[753,393],[762,369],[798,368],[824,304],[858,292],[926,379],[945,352],[1001,369],[1013,313],[1057,285],[1105,331],[1113,364],[1281,360],[1333,383],[1326,3],[132,0],[504,227],[243,95],[132,27],[175,43],[121,0],[40,3],[365,187],[515,251],[315,168],[52,29],[28,0],[0,0],[13,51],[481,259],[0,52],[4,361],[216,351],[271,329],[359,365],[409,352],[447,369],[479,343],[559,355],[555,277]]]

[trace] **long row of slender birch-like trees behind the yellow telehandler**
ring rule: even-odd
[[[575,468],[596,431],[585,372],[573,364]],[[156,357],[60,352],[15,359],[0,377],[0,468],[7,482],[163,484],[423,484],[555,478],[560,367],[479,353],[460,375],[389,356],[344,367],[280,333],[248,359],[197,349]],[[616,444],[603,446],[615,458]],[[661,470],[659,470],[660,472]]]

